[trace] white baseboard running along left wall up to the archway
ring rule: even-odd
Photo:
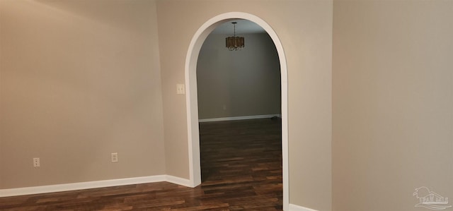
[[[156,175],[156,176],[141,176],[126,179],[110,179],[102,181],[88,181],[80,183],[66,183],[50,186],[34,186],[26,188],[11,188],[11,189],[0,189],[0,197],[15,196],[15,195],[30,195],[38,193],[54,193],[62,191],[76,191],[82,189],[91,188],[105,188],[112,186],[126,186],[140,183],[154,183],[168,181],[170,183],[176,183],[181,186],[190,187],[190,181],[188,179],[179,178],[170,175]]]

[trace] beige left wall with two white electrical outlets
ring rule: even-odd
[[[0,1],[0,188],[165,174],[156,30],[154,1]]]

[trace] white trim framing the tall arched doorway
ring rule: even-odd
[[[282,169],[283,169],[283,210],[289,207],[289,165],[288,165],[288,80],[287,64],[282,43],[273,28],[258,16],[249,13],[231,12],[223,13],[207,20],[193,35],[185,58],[185,99],[188,123],[188,150],[190,185],[198,186],[201,183],[200,167],[200,131],[198,128],[198,100],[197,100],[197,59],[200,49],[207,35],[219,24],[231,19],[251,20],[263,28],[272,38],[280,59],[280,75],[282,89]]]

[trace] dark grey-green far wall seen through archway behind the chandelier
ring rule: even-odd
[[[231,27],[232,28],[232,27]],[[246,47],[229,51],[223,34],[210,34],[197,61],[198,118],[280,114],[280,61],[265,32],[237,34]]]

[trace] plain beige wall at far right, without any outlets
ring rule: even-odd
[[[427,210],[420,186],[451,199],[453,1],[333,14],[333,210]]]

